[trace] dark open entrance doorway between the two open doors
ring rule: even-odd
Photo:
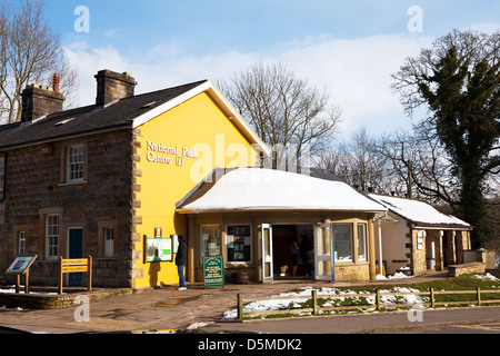
[[[274,278],[313,278],[312,225],[272,225]]]

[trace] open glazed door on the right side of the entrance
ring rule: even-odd
[[[314,279],[336,280],[332,225],[314,225]]]

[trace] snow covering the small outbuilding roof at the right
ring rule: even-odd
[[[436,226],[449,225],[453,227],[461,226],[464,228],[471,227],[466,221],[462,221],[454,216],[443,214],[424,201],[377,194],[369,194],[368,196],[382,204],[389,210],[417,224]]]

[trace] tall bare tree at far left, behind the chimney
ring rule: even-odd
[[[0,0],[0,122],[19,121],[21,92],[27,85],[50,86],[58,72],[64,97],[71,98],[78,87],[59,36],[43,16],[44,6],[42,0]]]

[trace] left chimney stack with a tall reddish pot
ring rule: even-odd
[[[21,92],[21,122],[31,122],[42,116],[62,111],[64,97],[59,92],[58,75],[53,77],[53,89],[39,85],[26,87]]]

